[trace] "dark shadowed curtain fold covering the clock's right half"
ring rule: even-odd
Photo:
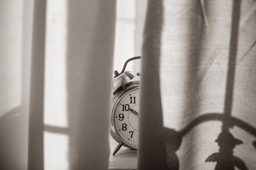
[[[166,168],[159,87],[162,25],[163,1],[149,1],[143,34],[138,169]]]

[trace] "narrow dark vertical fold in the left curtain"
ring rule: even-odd
[[[34,2],[28,169],[44,169],[44,61],[46,0]]]

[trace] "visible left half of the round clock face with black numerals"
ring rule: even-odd
[[[134,88],[121,96],[114,108],[115,132],[121,141],[138,148],[140,89]]]

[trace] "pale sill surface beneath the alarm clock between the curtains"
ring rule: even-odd
[[[112,155],[118,143],[110,136],[109,169],[137,169],[137,150],[122,147],[115,156]]]

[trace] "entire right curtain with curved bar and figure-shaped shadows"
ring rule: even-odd
[[[148,3],[139,169],[255,169],[255,1]]]

